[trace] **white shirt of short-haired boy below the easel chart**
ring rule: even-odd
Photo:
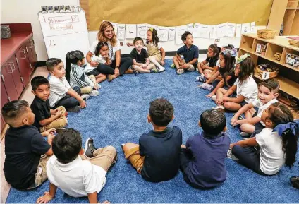
[[[71,88],[71,85],[68,83],[68,80],[66,80],[65,76],[63,76],[61,79],[57,78],[56,76],[50,76],[49,83],[49,103],[50,107],[54,107],[56,102],[66,96],[66,92],[68,92],[68,90]]]

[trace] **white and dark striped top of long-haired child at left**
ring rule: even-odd
[[[72,64],[70,73],[70,85],[72,88],[78,86],[83,88],[85,86],[94,87],[92,80],[84,73],[83,68],[77,64]]]

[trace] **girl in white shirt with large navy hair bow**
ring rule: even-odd
[[[299,120],[286,105],[271,104],[262,112],[265,128],[249,139],[230,145],[238,162],[258,174],[277,174],[283,164],[292,167],[298,150]]]

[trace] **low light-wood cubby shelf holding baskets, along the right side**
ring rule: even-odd
[[[256,44],[266,44],[267,49],[264,56],[255,52]],[[277,61],[274,59],[274,54],[279,52],[282,54],[281,60]],[[243,34],[240,41],[240,49],[238,56],[249,53],[252,56],[255,65],[259,57],[267,59],[270,62],[279,64],[285,68],[290,68],[293,71],[299,72],[299,68],[295,68],[285,63],[286,61],[286,52],[299,55],[299,47],[291,46],[288,44],[288,38],[286,37],[275,37],[274,39],[262,39],[257,37],[256,34]],[[277,76],[276,80],[280,83],[280,90],[286,92],[288,95],[299,99],[299,83],[296,83],[293,80],[290,80],[283,76]]]

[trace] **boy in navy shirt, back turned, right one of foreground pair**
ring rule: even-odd
[[[181,146],[180,166],[185,181],[194,188],[213,188],[226,180],[224,160],[231,139],[226,117],[216,109],[206,110],[198,123],[203,132],[188,138]]]

